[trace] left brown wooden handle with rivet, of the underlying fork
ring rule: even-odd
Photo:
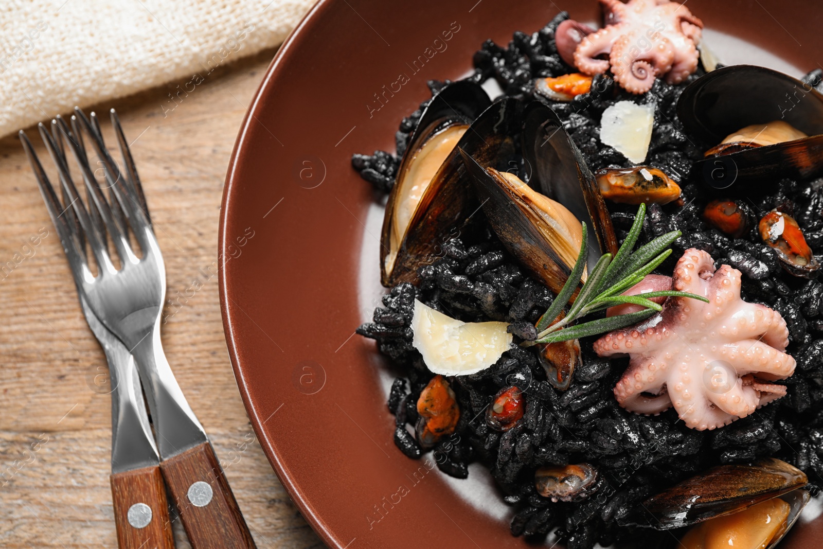
[[[114,473],[110,481],[120,549],[174,549],[160,467]]]

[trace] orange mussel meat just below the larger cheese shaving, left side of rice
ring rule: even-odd
[[[417,399],[417,440],[423,448],[433,448],[444,436],[451,435],[460,419],[460,407],[449,382],[435,375]]]

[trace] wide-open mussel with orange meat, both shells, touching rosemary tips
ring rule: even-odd
[[[483,212],[509,252],[559,292],[588,226],[588,265],[616,253],[611,217],[597,183],[555,112],[534,101],[523,112],[523,179],[500,172],[463,150]]]

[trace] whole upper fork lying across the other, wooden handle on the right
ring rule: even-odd
[[[60,212],[58,217],[68,214],[63,229],[71,238],[63,242],[63,249],[77,293],[92,316],[123,343],[137,362],[155,427],[160,470],[192,546],[195,549],[255,547],[214,449],[166,361],[160,342],[165,264],[133,157],[114,109],[110,118],[124,170],[120,170],[109,154],[94,113],[90,120],[81,109],[75,108],[71,128],[63,118],[57,117],[53,120],[54,136],[40,123],[40,137],[57,166],[63,202],[54,193],[22,132],[21,142],[49,212]],[[86,137],[102,165],[109,198],[91,170]],[[72,152],[81,171],[85,202],[73,183],[63,145]],[[139,245],[139,256],[129,240],[129,232]],[[119,268],[109,255],[109,239]],[[86,256],[86,242],[94,258],[96,274]]]

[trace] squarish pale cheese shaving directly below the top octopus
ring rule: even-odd
[[[603,111],[600,141],[635,164],[646,160],[654,126],[654,105],[618,101]],[[679,195],[679,193],[678,193]]]

